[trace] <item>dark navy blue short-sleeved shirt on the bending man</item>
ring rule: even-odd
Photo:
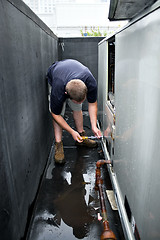
[[[51,90],[51,111],[59,115],[67,95],[66,84],[72,79],[80,79],[87,86],[87,100],[94,103],[97,100],[97,82],[87,67],[76,60],[66,59],[53,63],[47,73]]]

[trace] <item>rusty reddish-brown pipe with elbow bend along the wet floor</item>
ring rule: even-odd
[[[106,211],[106,206],[105,206],[105,200],[104,200],[104,195],[103,195],[103,190],[102,190],[103,180],[101,178],[101,169],[100,168],[105,163],[110,164],[111,161],[99,160],[96,163],[95,189],[99,191],[99,195],[100,195],[100,204],[101,204],[102,220],[103,220],[103,227],[104,227],[104,231],[101,234],[101,240],[115,240],[116,236],[112,232],[112,230],[109,228],[109,222],[107,220],[107,211]]]

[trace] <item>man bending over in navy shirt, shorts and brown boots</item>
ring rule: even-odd
[[[92,131],[95,136],[101,136],[101,131],[97,128],[97,82],[87,67],[73,59],[53,63],[48,69],[47,77],[51,86],[50,109],[55,134],[54,158],[56,163],[61,164],[64,163],[62,129],[72,135],[78,146],[97,145],[93,140],[82,140],[82,136],[85,136],[82,103],[86,98]],[[77,131],[72,129],[63,118],[66,101],[73,111]]]

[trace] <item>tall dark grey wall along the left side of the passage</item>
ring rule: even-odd
[[[45,74],[57,37],[20,0],[0,1],[0,238],[24,237],[52,144]]]

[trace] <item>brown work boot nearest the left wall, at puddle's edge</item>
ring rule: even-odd
[[[64,151],[63,151],[63,143],[62,143],[62,141],[55,143],[54,160],[55,160],[55,163],[58,163],[58,164],[63,164],[63,163],[65,163]]]

